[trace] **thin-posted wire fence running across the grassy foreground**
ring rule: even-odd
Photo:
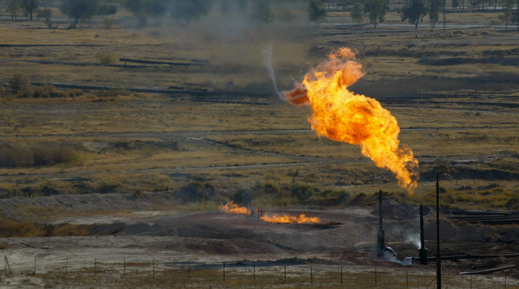
[[[110,283],[108,288],[154,287],[167,283],[218,288],[247,286],[326,288],[436,288],[435,267],[373,267],[277,262],[193,262],[123,258],[110,255],[57,258],[35,256],[29,260],[4,255],[0,284],[10,278],[33,276],[53,281],[54,286]],[[112,281],[117,281],[113,283]],[[112,283],[111,283],[112,282]],[[5,285],[5,284],[3,284]],[[500,272],[491,275],[442,274],[443,288],[519,288],[519,281]]]

